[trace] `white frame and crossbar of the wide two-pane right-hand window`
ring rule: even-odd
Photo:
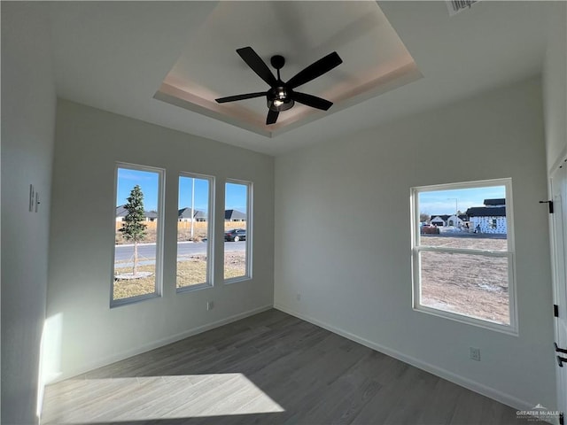
[[[420,246],[419,234],[419,201],[418,195],[428,191],[450,190],[450,189],[472,189],[479,187],[504,186],[506,188],[506,221],[507,221],[507,251],[482,251],[455,249],[445,247],[425,247]],[[412,305],[417,312],[428,313],[434,316],[443,317],[453,321],[496,330],[505,334],[517,336],[517,290],[516,290],[516,250],[514,241],[514,219],[513,219],[513,201],[512,201],[512,179],[493,179],[478,182],[462,182],[447,183],[431,186],[420,186],[411,188],[410,193],[411,205],[411,238],[412,238]],[[421,267],[420,252],[437,251],[447,253],[463,253],[471,255],[483,255],[487,257],[499,257],[508,259],[508,296],[509,296],[509,325],[495,323],[483,319],[470,317],[460,313],[451,313],[437,308],[428,307],[421,304]]]

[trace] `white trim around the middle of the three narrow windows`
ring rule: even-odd
[[[195,285],[187,285],[183,286],[182,288],[177,288],[177,247],[179,244],[177,243],[177,238],[175,238],[175,292],[177,294],[190,292],[193,290],[204,290],[206,288],[212,288],[214,282],[214,191],[215,191],[215,182],[213,175],[207,174],[197,174],[197,173],[187,173],[181,172],[177,177],[177,204],[179,205],[179,177],[187,177],[190,179],[201,179],[206,180],[209,182],[209,193],[208,193],[208,201],[209,201],[209,211],[207,217],[207,234],[206,234],[206,282],[198,283]],[[176,220],[177,221],[177,220]],[[178,224],[177,224],[178,225]],[[176,230],[178,231],[178,230]]]

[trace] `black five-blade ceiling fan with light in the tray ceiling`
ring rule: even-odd
[[[316,97],[313,95],[308,95],[307,93],[300,93],[295,91],[296,87],[305,84],[306,82],[315,80],[315,78],[320,77],[323,73],[328,73],[331,69],[339,66],[343,63],[336,51],[333,51],[329,55],[317,60],[315,63],[307,66],[303,71],[299,71],[295,76],[291,77],[287,82],[283,82],[280,78],[280,69],[283,68],[285,64],[285,59],[283,56],[276,55],[270,58],[270,64],[276,68],[277,78],[269,70],[266,63],[258,56],[258,54],[252,49],[252,47],[243,47],[242,49],[237,49],[240,58],[243,58],[246,65],[252,68],[254,73],[266,81],[270,87],[268,91],[258,91],[255,93],[245,93],[244,95],[236,95],[229,97],[220,97],[216,100],[219,104],[224,104],[225,102],[235,102],[237,100],[252,99],[253,97],[265,96],[268,100],[268,117],[266,118],[266,124],[275,124],[277,116],[282,111],[287,111],[291,109],[295,102],[300,104],[307,104],[312,108],[322,109],[327,111],[332,102],[322,99],[321,97]]]

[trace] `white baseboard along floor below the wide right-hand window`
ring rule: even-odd
[[[283,313],[291,314],[292,316],[295,316],[301,319],[302,321],[308,321],[309,323],[313,323],[314,325],[319,326],[320,328],[327,329],[334,334],[344,336],[347,339],[350,339],[355,343],[369,347],[372,350],[376,350],[377,352],[382,352],[390,357],[393,357],[394,359],[398,359],[400,361],[403,361],[404,363],[408,363],[409,365],[422,369],[425,372],[429,372],[430,374],[439,376],[440,378],[446,379],[451,383],[460,385],[466,388],[467,390],[478,392],[478,394],[481,394],[487,398],[492,398],[493,400],[496,400],[506,406],[510,406],[517,410],[530,410],[534,406],[532,403],[528,403],[527,401],[521,400],[509,394],[502,393],[500,390],[495,390],[482,383],[477,383],[476,381],[473,381],[469,378],[465,378],[464,376],[456,375],[453,372],[450,372],[442,367],[431,365],[430,363],[426,363],[420,359],[407,356],[402,352],[392,350],[391,348],[385,347],[384,345],[377,344],[373,341],[369,341],[368,339],[362,338],[361,336],[357,336],[344,329],[332,326],[329,323],[318,321],[317,319],[310,317],[306,314],[296,312],[295,310],[289,308],[286,305],[275,303],[274,308],[276,308],[276,310],[280,310]]]

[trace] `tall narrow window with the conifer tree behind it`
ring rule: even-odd
[[[116,167],[111,305],[161,293],[163,176],[163,170],[149,166]]]

